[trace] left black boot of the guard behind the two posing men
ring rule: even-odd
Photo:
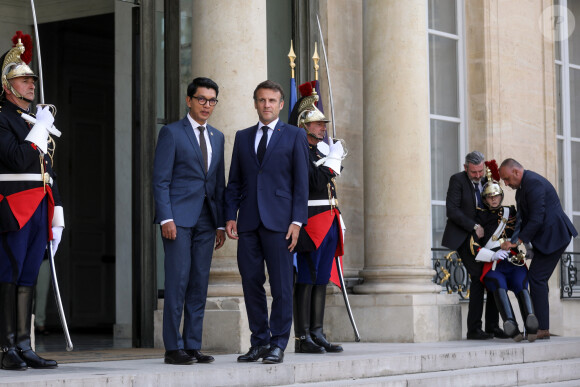
[[[311,284],[294,285],[294,335],[296,341],[294,352],[296,353],[325,353],[326,351],[316,345],[310,337],[310,299],[312,295]]]

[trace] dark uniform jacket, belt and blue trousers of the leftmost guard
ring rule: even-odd
[[[7,100],[0,105],[0,282],[32,286],[62,202],[51,158],[25,141],[30,126],[23,112]]]

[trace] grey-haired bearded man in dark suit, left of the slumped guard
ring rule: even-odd
[[[465,156],[464,171],[451,176],[447,189],[447,225],[441,244],[456,250],[467,272],[471,276],[469,309],[467,312],[467,338],[486,340],[494,336],[507,338],[499,328],[499,314],[493,297],[487,298],[485,310],[485,332],[482,330],[483,299],[485,286],[479,280],[483,264],[476,262],[470,252],[471,236],[483,237],[483,228],[476,223],[476,208],[483,208],[481,189],[485,183],[485,156],[474,151]]]

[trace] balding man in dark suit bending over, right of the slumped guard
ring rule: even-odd
[[[550,338],[550,304],[548,280],[572,237],[578,236],[560,199],[546,178],[524,170],[514,159],[504,160],[499,168],[504,183],[516,191],[516,204],[521,214],[520,233],[516,243],[505,241],[503,249],[524,243],[532,250],[532,263],[528,271],[530,296],[538,317],[538,339]],[[529,254],[529,253],[528,253]]]

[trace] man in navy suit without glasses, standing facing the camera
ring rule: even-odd
[[[257,125],[236,133],[226,189],[226,232],[238,240],[238,267],[252,336],[239,362],[281,363],[292,325],[292,251],[308,220],[308,142],[278,118],[284,92],[264,81],[254,90]],[[237,221],[236,221],[237,220]],[[272,313],[264,283],[264,262]]]

